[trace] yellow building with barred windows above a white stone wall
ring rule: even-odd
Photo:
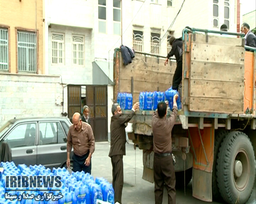
[[[60,77],[44,75],[44,44],[43,0],[0,0],[0,125],[62,113]]]

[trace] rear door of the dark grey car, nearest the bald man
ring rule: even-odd
[[[66,161],[66,135],[60,121],[39,121],[37,164],[58,168]]]

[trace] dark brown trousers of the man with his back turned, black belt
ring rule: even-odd
[[[168,204],[176,204],[176,177],[172,156],[154,155],[155,204],[162,204],[164,183],[168,193]]]

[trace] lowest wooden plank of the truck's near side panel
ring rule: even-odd
[[[244,113],[244,100],[190,97],[190,111],[210,113]]]

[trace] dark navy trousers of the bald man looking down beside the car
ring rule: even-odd
[[[73,171],[84,171],[85,173],[89,173],[91,174],[91,162],[89,166],[86,166],[85,160],[87,159],[87,157],[89,156],[89,151],[85,154],[82,155],[81,157],[73,154],[72,159],[73,159]]]

